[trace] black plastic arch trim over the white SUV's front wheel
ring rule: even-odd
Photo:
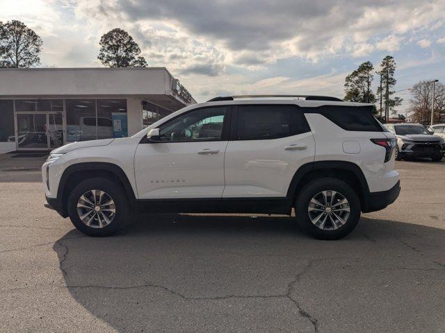
[[[67,199],[70,191],[79,184],[81,180],[88,178],[103,177],[118,181],[129,199],[131,205],[136,204],[136,195],[131,183],[122,168],[110,162],[83,162],[67,167],[63,171],[57,190],[57,198],[62,203],[62,216],[67,217]]]

